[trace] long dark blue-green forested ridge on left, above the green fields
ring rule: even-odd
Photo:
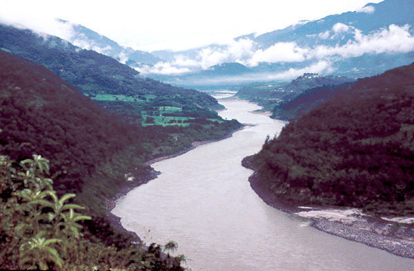
[[[0,48],[40,63],[83,94],[151,95],[151,102],[162,106],[222,108],[208,94],[141,78],[139,72],[111,57],[44,33],[0,24]]]

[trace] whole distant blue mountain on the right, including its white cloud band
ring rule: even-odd
[[[146,72],[148,76],[180,85],[188,83],[184,82],[186,77],[197,79],[196,74],[206,70],[202,64],[213,61],[219,54],[221,61],[218,64],[238,62],[252,71],[244,74],[244,79],[221,74],[221,85],[281,81],[303,72],[353,78],[373,76],[414,61],[413,14],[414,1],[411,0],[368,3],[354,12],[334,14],[316,21],[300,21],[257,37],[246,34],[228,45],[212,44],[182,52],[155,51],[152,54],[169,61],[170,65],[177,59],[184,59],[192,66],[183,66],[180,61],[181,66],[177,68],[188,68],[187,72],[164,73],[162,76],[157,70]],[[191,83],[195,88],[202,85],[198,80]]]

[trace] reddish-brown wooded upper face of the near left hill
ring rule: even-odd
[[[17,161],[32,154],[50,159],[59,194],[82,192],[83,182],[126,146],[134,145],[138,157],[148,154],[136,143],[144,137],[137,126],[109,114],[56,74],[1,50],[0,60],[1,154]],[[113,181],[112,189],[123,179]]]

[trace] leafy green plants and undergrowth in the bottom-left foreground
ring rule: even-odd
[[[0,268],[10,270],[182,270],[184,257],[170,257],[153,244],[119,249],[84,238],[81,221],[92,219],[71,203],[75,194],[58,197],[49,161],[40,155],[17,163],[0,155]],[[176,243],[168,243],[173,250]]]

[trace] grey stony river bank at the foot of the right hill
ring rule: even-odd
[[[255,168],[243,159],[245,168]],[[256,172],[249,177],[251,188],[263,201],[283,212],[311,220],[311,227],[344,239],[386,250],[400,257],[414,259],[414,229],[384,217],[372,217],[355,208],[297,206],[275,197],[259,185]]]

